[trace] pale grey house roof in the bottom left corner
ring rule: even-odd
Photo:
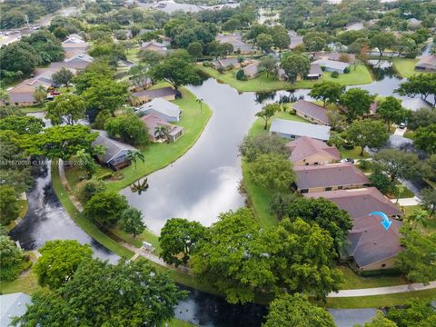
[[[0,295],[0,325],[12,326],[12,319],[24,315],[31,304],[32,298],[24,292]]]

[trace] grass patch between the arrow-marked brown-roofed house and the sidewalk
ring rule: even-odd
[[[383,287],[392,285],[401,285],[408,283],[404,276],[377,276],[362,277],[352,271],[348,265],[338,267],[343,273],[344,282],[340,285],[342,290],[353,290],[372,287]]]

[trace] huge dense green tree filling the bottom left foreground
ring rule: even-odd
[[[64,287],[35,292],[21,326],[159,326],[186,292],[144,260],[84,261]]]

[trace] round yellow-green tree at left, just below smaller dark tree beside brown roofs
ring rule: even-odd
[[[86,104],[79,95],[61,94],[53,102],[47,104],[46,117],[52,124],[74,125],[79,119],[84,118]]]

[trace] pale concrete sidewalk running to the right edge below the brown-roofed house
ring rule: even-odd
[[[368,289],[357,289],[357,290],[342,290],[339,292],[331,292],[327,297],[354,297],[354,296],[372,296],[372,295],[383,295],[383,294],[393,294],[399,292],[413,292],[413,291],[423,291],[431,290],[436,288],[436,281],[430,282],[428,285],[424,285],[421,282],[397,285],[397,286],[386,286],[386,287],[376,287]]]

